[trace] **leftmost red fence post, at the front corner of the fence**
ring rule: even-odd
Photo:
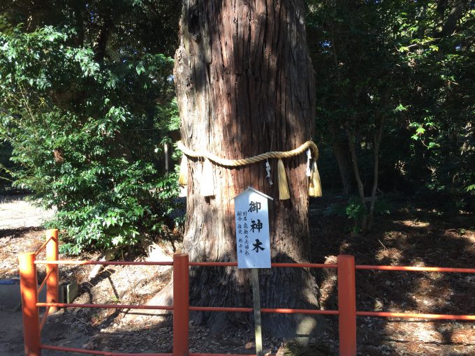
[[[38,281],[35,253],[20,253],[20,290],[22,295],[24,355],[40,356],[40,316],[38,313]]]

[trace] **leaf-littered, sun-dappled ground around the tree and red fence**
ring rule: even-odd
[[[473,214],[446,214],[427,202],[401,200],[394,203],[389,215],[377,217],[373,232],[360,235],[350,232],[348,219],[324,216],[328,206],[339,200],[331,197],[311,202],[311,262],[335,263],[337,255],[346,253],[355,255],[358,265],[474,267]],[[0,210],[2,207],[0,202]],[[17,253],[35,251],[43,238],[43,230],[34,226],[0,228],[0,279],[17,279]],[[170,246],[155,247],[157,259],[166,258],[163,253],[171,255]],[[98,253],[79,256],[81,260],[99,258]],[[130,260],[131,256],[120,258]],[[171,275],[170,267],[110,266],[91,278],[92,268],[60,268],[62,281],[75,279],[79,283],[77,303],[144,304],[168,283]],[[335,270],[318,269],[314,274],[321,287],[321,306],[337,309]],[[38,277],[44,275],[44,269],[38,267]],[[356,284],[360,311],[475,314],[472,274],[358,271]],[[0,355],[23,355],[19,310],[6,308],[0,300]],[[90,350],[171,352],[173,325],[169,315],[147,318],[125,314],[113,309],[61,309],[48,318],[42,341]],[[337,318],[328,316],[326,320],[328,327],[323,334],[305,347],[265,337],[265,354],[337,355]],[[475,355],[475,322],[367,317],[358,317],[357,321],[358,355]],[[207,327],[191,325],[190,349],[194,353],[252,354],[253,334],[251,330],[210,334]],[[63,353],[46,351],[43,355]]]

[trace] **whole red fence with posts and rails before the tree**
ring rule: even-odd
[[[47,241],[41,249],[46,247],[46,260],[36,260],[36,253],[21,253],[20,285],[22,292],[22,313],[24,331],[24,350],[27,356],[40,356],[41,350],[57,350],[70,353],[107,356],[221,356],[224,354],[189,353],[189,311],[225,311],[225,312],[252,312],[253,308],[245,307],[214,307],[189,305],[189,266],[201,267],[233,267],[236,262],[189,262],[187,254],[173,256],[173,262],[117,262],[117,261],[74,261],[58,260],[58,232],[48,230]],[[45,281],[38,289],[36,279],[36,265],[47,265]],[[143,266],[173,266],[173,306],[147,306],[128,304],[68,304],[58,302],[58,267],[59,265],[143,265]],[[339,255],[336,264],[326,265],[319,263],[272,263],[272,267],[305,267],[305,268],[333,268],[337,269],[338,283],[338,310],[319,309],[284,309],[262,308],[262,313],[305,313],[321,315],[337,315],[339,320],[339,355],[356,356],[356,317],[378,316],[383,318],[422,318],[446,320],[475,320],[474,315],[446,315],[422,313],[393,313],[388,311],[356,311],[356,269],[373,269],[385,271],[405,272],[457,272],[473,273],[470,268],[446,267],[410,267],[410,266],[370,266],[355,265],[352,255]],[[38,302],[38,292],[47,286],[45,303]],[[45,315],[40,321],[38,307],[46,307]],[[66,348],[50,346],[41,343],[41,329],[45,325],[48,311],[57,308],[106,308],[106,309],[159,309],[173,311],[173,353],[112,353],[109,351],[85,350],[81,348]],[[250,356],[231,355],[226,356]],[[254,356],[254,355],[253,355]]]

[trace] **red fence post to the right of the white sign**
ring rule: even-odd
[[[338,256],[339,355],[356,356],[355,258]]]

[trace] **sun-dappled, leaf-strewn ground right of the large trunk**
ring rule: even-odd
[[[310,220],[319,221],[311,225],[312,262],[335,263],[339,253],[348,253],[356,256],[357,265],[473,267],[473,216],[402,206],[378,216],[374,231],[358,235],[350,233],[352,221],[322,218],[328,202],[323,198],[310,210]],[[322,305],[336,309],[336,272],[316,276]],[[468,274],[359,270],[357,310],[473,315],[474,282],[475,276]],[[333,327],[336,337],[336,322]],[[358,318],[358,350],[362,355],[475,355],[475,323]]]

